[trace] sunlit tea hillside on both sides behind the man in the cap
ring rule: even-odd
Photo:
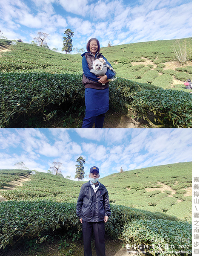
[[[14,170],[0,170],[0,183],[3,183],[3,172]],[[84,183],[42,172],[29,178],[14,190],[0,189],[0,195],[9,200],[47,198],[70,203],[77,201]],[[191,218],[191,162],[115,173],[100,182],[108,189],[113,204]]]

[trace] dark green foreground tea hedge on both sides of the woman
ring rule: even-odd
[[[151,81],[157,75],[155,70],[147,73],[152,75]],[[161,76],[171,79],[169,74]],[[158,79],[159,86],[161,76],[154,79]],[[146,81],[150,80],[146,78]],[[50,120],[57,115],[57,111],[80,116],[85,107],[84,93],[80,73],[0,73],[0,128],[11,124],[18,127],[22,118],[25,121],[20,127],[30,127],[36,122],[37,116]],[[191,127],[191,93],[188,92],[162,90],[148,83],[118,78],[109,86],[109,103],[114,111],[132,108],[138,117],[143,117],[149,123],[152,122],[149,113],[153,113],[158,125]]]

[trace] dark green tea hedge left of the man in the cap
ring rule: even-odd
[[[0,248],[21,239],[42,242],[54,230],[64,229],[71,236],[81,230],[75,204],[52,201],[7,201],[0,208]]]

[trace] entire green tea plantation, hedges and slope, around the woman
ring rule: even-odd
[[[126,44],[101,49],[117,72],[110,83],[110,109],[132,111],[151,127],[191,127],[191,38],[188,60],[175,60],[174,40]],[[81,127],[85,113],[82,57],[32,44],[0,39],[0,127]],[[147,64],[149,63],[149,64]],[[179,84],[174,84],[176,79]]]

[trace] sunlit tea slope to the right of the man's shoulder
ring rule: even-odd
[[[191,162],[116,173],[101,180],[115,204],[191,218]]]

